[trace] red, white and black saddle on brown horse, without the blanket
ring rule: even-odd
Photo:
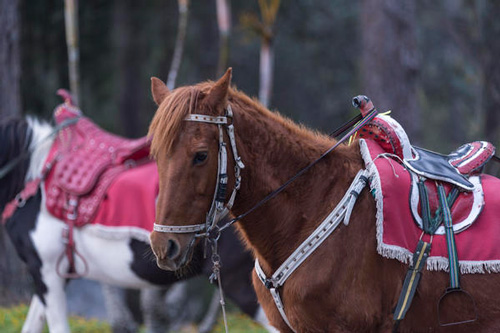
[[[478,174],[495,154],[495,147],[491,143],[475,141],[462,145],[448,155],[442,155],[412,146],[401,125],[386,115],[375,117],[358,135],[375,141],[387,155],[397,159],[410,171],[412,186],[409,202],[415,222],[424,231],[431,231],[422,218],[425,214],[422,210],[427,205],[424,200],[428,200],[434,223],[438,224],[442,219],[436,182],[444,184],[448,197],[453,187],[459,189],[458,192],[453,191],[454,198],[449,198],[455,233],[465,230],[477,219],[484,206]],[[444,229],[440,227],[433,232],[443,234]]]

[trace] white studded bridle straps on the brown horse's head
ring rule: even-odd
[[[212,117],[202,114],[190,114],[184,121],[194,121],[208,124],[215,124],[219,128],[219,154],[218,154],[218,171],[217,171],[217,183],[215,185],[215,192],[212,199],[212,204],[210,206],[210,211],[207,214],[205,223],[182,225],[182,226],[167,226],[155,223],[153,230],[157,232],[166,233],[194,233],[195,238],[205,237],[210,234],[211,231],[217,230],[217,223],[225,218],[234,204],[234,199],[236,198],[236,193],[238,192],[241,185],[241,169],[245,167],[241,161],[241,157],[238,155],[238,150],[236,149],[236,139],[234,136],[234,125],[233,125],[233,111],[231,106],[228,105],[226,108],[226,115],[219,117]],[[229,144],[233,151],[234,158],[234,176],[235,184],[231,196],[227,203],[224,203],[227,193],[227,148],[224,142],[224,131],[226,129],[227,136],[229,137]]]

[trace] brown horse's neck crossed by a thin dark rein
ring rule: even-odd
[[[235,127],[245,163],[233,209],[236,215],[251,209],[335,144],[262,109],[245,110],[235,118]],[[358,145],[341,145],[239,223],[263,267],[279,267],[340,201],[361,167]]]

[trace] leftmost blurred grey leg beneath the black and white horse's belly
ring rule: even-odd
[[[113,332],[136,332],[137,323],[125,302],[125,290],[101,283],[108,321]]]

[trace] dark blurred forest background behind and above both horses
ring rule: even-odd
[[[0,117],[50,120],[56,90],[70,88],[64,8],[0,0]],[[416,145],[498,145],[498,17],[493,0],[79,1],[78,104],[101,127],[139,137],[156,110],[151,76],[180,86],[230,66],[240,90],[324,132],[365,94]],[[26,289],[8,279],[9,251],[0,238],[0,290],[15,300]]]

